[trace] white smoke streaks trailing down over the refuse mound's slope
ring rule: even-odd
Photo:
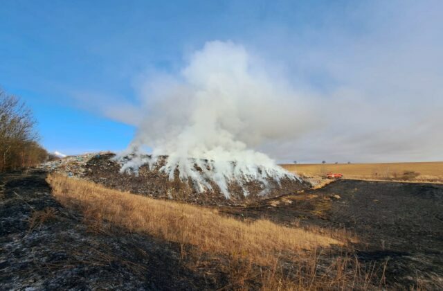
[[[190,182],[198,193],[214,191],[218,187],[224,197],[229,198],[230,184],[237,184],[243,195],[249,195],[246,184],[255,182],[260,184],[262,191],[258,195],[266,195],[270,190],[270,180],[280,185],[281,179],[301,182],[300,178],[283,168],[276,166],[269,159],[269,164],[253,164],[253,160],[225,161],[192,159],[177,157],[153,157],[150,155],[131,155],[129,157],[116,157],[116,161],[123,164],[120,173],[133,173],[138,175],[138,170],[145,165],[149,170],[157,170],[168,175],[171,182],[179,179],[181,182]]]

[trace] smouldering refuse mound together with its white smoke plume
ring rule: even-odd
[[[243,46],[208,42],[178,76],[157,74],[141,86],[145,117],[127,150],[50,167],[123,191],[197,203],[300,191],[306,182],[257,149],[307,130],[311,110],[267,71]]]

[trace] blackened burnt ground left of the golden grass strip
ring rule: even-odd
[[[213,290],[227,284],[210,259],[198,270],[186,267],[178,245],[97,228],[55,201],[45,178],[39,170],[0,175],[0,290]]]

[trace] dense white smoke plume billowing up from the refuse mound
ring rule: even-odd
[[[160,170],[170,179],[177,169],[180,179],[190,179],[198,191],[211,190],[214,182],[226,197],[233,181],[255,180],[266,188],[270,178],[296,179],[252,148],[307,130],[307,123],[296,120],[309,121],[312,111],[301,94],[260,64],[242,46],[208,42],[179,76],[150,78],[143,86],[143,122],[116,157],[124,162],[122,171],[155,166],[166,155]]]

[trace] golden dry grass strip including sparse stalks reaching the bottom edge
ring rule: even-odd
[[[268,220],[244,222],[220,215],[216,209],[154,200],[62,175],[50,175],[48,182],[57,200],[82,211],[96,228],[102,221],[111,222],[177,243],[183,256],[194,249],[199,257],[228,258],[229,263],[217,267],[229,276],[227,289],[365,289],[373,286],[379,271],[375,265],[362,267],[344,251],[345,243],[320,231],[283,227]],[[325,263],[321,254],[331,246],[343,254]],[[200,258],[197,261],[201,264]],[[319,267],[320,261],[325,265]]]

